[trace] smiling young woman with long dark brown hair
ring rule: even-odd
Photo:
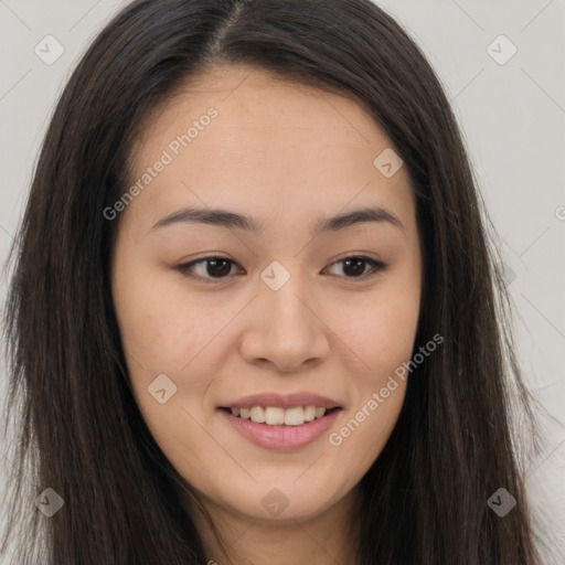
[[[486,217],[372,2],[126,7],[18,238],[19,562],[540,563]]]

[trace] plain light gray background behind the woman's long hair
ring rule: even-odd
[[[529,385],[565,422],[565,0],[377,3],[420,44],[452,100],[501,237]],[[113,0],[0,0],[2,262],[53,105],[85,46],[121,6]],[[50,34],[64,46],[52,65],[34,53]],[[505,40],[492,44],[500,34],[518,49],[505,64],[490,54],[510,53]],[[6,285],[2,278],[2,305]],[[6,371],[0,361],[1,394]],[[534,479],[563,478],[565,433],[552,434],[551,449],[535,461]],[[9,465],[6,452],[4,439],[0,471]],[[563,490],[552,495],[563,507]]]

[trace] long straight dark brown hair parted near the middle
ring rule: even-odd
[[[9,415],[19,433],[8,529],[18,563],[205,563],[175,469],[135,403],[109,286],[132,141],[186,77],[245,63],[355,98],[398,148],[425,274],[408,380],[362,479],[359,564],[537,564],[513,414],[534,414],[509,332],[493,228],[424,54],[369,0],[137,0],[95,39],[52,117],[11,257]],[[525,440],[525,439],[524,439]],[[526,444],[530,445],[530,444]],[[26,472],[31,481],[25,482]],[[28,488],[26,488],[28,484]],[[64,500],[50,519],[33,502]],[[504,518],[487,504],[504,488]]]

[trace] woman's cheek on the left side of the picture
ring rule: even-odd
[[[137,406],[166,457],[188,475],[198,475],[199,457],[215,457],[200,427],[202,398],[214,374],[210,365],[203,370],[202,362],[211,335],[222,328],[221,317],[211,316],[210,308],[206,316],[196,300],[178,296],[171,285],[164,288],[162,276],[127,280],[116,311]],[[162,384],[156,387],[156,382]],[[152,394],[159,388],[166,391],[163,403]]]

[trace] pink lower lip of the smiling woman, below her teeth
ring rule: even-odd
[[[331,427],[341,411],[334,409],[327,416],[305,422],[300,426],[269,426],[239,418],[227,411],[220,412],[236,431],[253,444],[266,449],[288,450],[303,447],[318,439]]]

